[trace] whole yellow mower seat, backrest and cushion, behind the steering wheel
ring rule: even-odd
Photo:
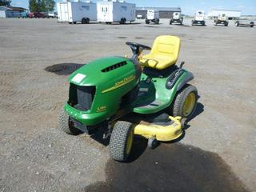
[[[161,35],[154,40],[150,54],[145,54],[139,61],[143,66],[157,70],[166,69],[178,60],[181,39],[170,35]]]

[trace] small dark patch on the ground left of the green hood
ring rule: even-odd
[[[84,66],[84,64],[78,64],[73,62],[58,63],[53,66],[47,66],[44,70],[58,75],[69,75],[82,66]]]

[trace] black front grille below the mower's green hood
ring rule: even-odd
[[[95,86],[76,86],[70,83],[70,106],[77,110],[90,110],[94,94]]]

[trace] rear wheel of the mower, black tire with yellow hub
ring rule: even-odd
[[[198,101],[198,90],[195,86],[186,85],[180,90],[174,99],[172,114],[188,120],[194,114]]]

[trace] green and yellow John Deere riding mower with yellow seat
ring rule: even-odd
[[[154,148],[182,135],[194,113],[198,91],[193,74],[178,67],[180,38],[162,35],[149,46],[126,42],[132,58],[100,58],[70,75],[69,100],[59,126],[68,134],[102,131],[110,137],[110,157],[126,161],[134,136]],[[143,50],[150,54],[142,55]]]

